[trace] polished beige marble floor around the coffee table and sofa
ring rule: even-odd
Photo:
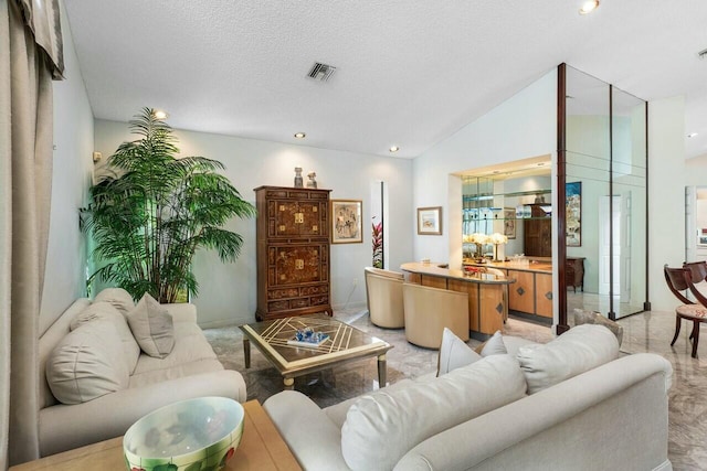
[[[394,345],[388,352],[388,382],[416,377],[436,370],[437,352],[405,341],[403,329],[380,329],[371,324],[367,311],[338,311],[335,317]],[[707,332],[699,343],[697,358],[693,358],[689,332],[685,323],[680,335],[671,346],[675,332],[672,312],[643,312],[619,320],[624,328],[621,351],[626,354],[652,352],[667,358],[674,370],[668,395],[668,457],[673,469],[707,469]],[[707,327],[704,327],[707,331]],[[268,361],[253,347],[251,367],[245,370],[243,338],[236,327],[207,329],[207,339],[226,368],[241,372],[245,378],[249,399],[261,403],[282,390],[282,377]],[[553,338],[547,325],[508,319],[504,334],[517,335],[545,343]],[[471,346],[478,341],[469,340]],[[298,377],[295,389],[327,407],[374,390],[379,387],[376,358],[340,365],[320,373]]]

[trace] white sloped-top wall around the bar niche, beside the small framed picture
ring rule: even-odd
[[[461,232],[451,234],[445,229],[451,227],[450,214],[461,217],[461,212],[454,212],[451,207],[454,203],[449,200],[451,173],[556,153],[556,90],[557,69],[553,68],[414,160],[414,207],[443,206],[444,231],[442,236],[416,235],[413,222],[414,259],[430,258],[454,264],[450,254],[461,253],[456,247],[461,245]],[[452,184],[457,183],[452,180]]]

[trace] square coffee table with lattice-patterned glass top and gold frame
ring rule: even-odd
[[[309,328],[329,335],[318,346],[288,345],[298,330]],[[329,317],[299,315],[240,325],[245,367],[251,367],[251,342],[283,375],[285,389],[295,377],[355,360],[378,357],[378,382],[386,386],[386,352],[393,345]]]

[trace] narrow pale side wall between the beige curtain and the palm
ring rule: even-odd
[[[86,257],[78,229],[78,208],[85,204],[91,183],[93,113],[63,2],[61,7],[65,79],[53,83],[54,168],[41,331],[86,291]]]

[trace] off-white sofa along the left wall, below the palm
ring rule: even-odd
[[[157,356],[130,339],[122,315],[129,307],[116,314],[105,304],[76,300],[40,338],[41,456],[122,436],[140,417],[177,400],[245,402],[243,377],[223,368],[197,325],[193,304],[157,304],[173,325],[169,353]],[[162,340],[156,341],[158,350]]]

